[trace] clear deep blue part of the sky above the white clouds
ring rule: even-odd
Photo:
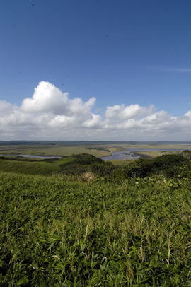
[[[45,81],[69,98],[96,98],[91,113],[103,121],[107,107],[122,104],[154,105],[172,117],[191,110],[190,0],[1,0],[0,5],[1,101],[18,109]],[[2,137],[18,138],[11,132]]]

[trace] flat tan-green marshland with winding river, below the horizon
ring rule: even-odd
[[[70,156],[89,153],[96,157],[105,157],[115,151],[127,151],[131,148],[141,155],[155,158],[166,153],[174,153],[175,149],[190,149],[191,142],[0,141],[2,155]],[[153,149],[153,151],[142,149]]]

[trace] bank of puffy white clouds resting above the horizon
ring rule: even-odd
[[[96,98],[70,98],[47,81],[40,81],[21,106],[0,100],[0,139],[190,141],[191,110],[173,117],[154,105],[108,106],[93,112]]]

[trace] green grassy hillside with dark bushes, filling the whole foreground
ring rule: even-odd
[[[189,151],[0,170],[1,286],[191,286]]]

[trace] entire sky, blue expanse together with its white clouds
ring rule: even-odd
[[[191,141],[190,0],[1,0],[0,140]]]

